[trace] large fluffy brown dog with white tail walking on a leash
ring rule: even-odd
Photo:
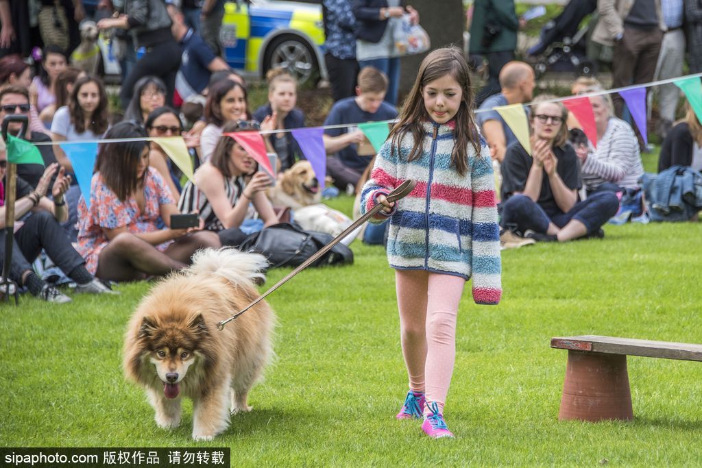
[[[258,297],[263,255],[231,248],[201,250],[193,265],[168,276],[138,305],[124,342],[124,372],[145,387],[159,427],[180,424],[192,399],[192,438],[211,440],[230,414],[251,411],[249,391],[272,356],[274,313],[265,301],[217,323]]]

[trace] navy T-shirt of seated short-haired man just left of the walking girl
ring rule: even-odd
[[[362,110],[356,103],[356,98],[345,98],[337,101],[331,110],[329,115],[326,116],[324,125],[339,125],[339,124],[350,124],[350,123],[365,123],[365,122],[378,122],[383,120],[392,120],[397,118],[397,110],[388,102],[383,102],[383,104],[378,107],[378,110],[371,114]],[[331,137],[338,137],[347,133],[349,128],[327,128],[324,133]],[[351,128],[351,130],[354,130]],[[355,169],[356,171],[363,172],[371,162],[373,156],[359,156],[356,152],[356,145],[348,145],[344,149],[338,152],[338,157],[344,166]]]

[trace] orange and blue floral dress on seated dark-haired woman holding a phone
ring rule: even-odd
[[[102,229],[126,227],[131,234],[154,232],[159,230],[161,205],[175,204],[164,179],[159,172],[150,167],[144,180],[144,211],[131,197],[121,201],[117,194],[107,187],[100,173],[93,175],[91,182],[90,208],[83,196],[78,203],[78,253],[86,260],[86,269],[92,274],[98,269],[100,252],[110,242]],[[156,246],[164,251],[172,241]]]

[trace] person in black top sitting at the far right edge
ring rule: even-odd
[[[690,166],[702,171],[702,125],[689,103],[685,107],[684,118],[668,132],[661,145],[659,173],[670,166]]]

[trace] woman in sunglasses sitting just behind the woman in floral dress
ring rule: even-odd
[[[177,137],[183,134],[183,123],[171,107],[159,107],[147,117],[146,131],[150,137]],[[180,171],[173,166],[166,152],[155,142],[151,142],[149,164],[159,171],[166,185],[171,189],[171,194],[179,196],[182,188]]]

